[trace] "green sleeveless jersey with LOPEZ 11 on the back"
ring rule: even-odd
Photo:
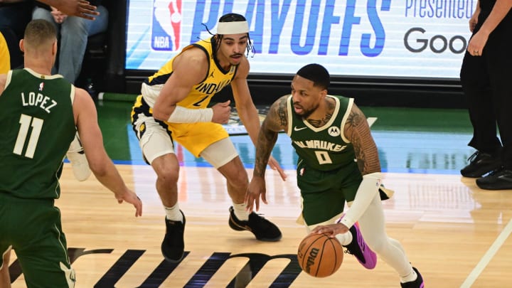
[[[76,127],[75,87],[61,75],[11,70],[0,95],[0,193],[58,198],[58,178]]]

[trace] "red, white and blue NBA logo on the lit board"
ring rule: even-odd
[[[181,0],[154,0],[151,48],[176,51],[181,36]]]

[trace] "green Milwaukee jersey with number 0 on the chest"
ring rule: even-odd
[[[320,171],[331,171],[352,166],[356,155],[352,144],[343,135],[343,127],[353,105],[353,98],[331,96],[336,101],[333,117],[322,127],[314,127],[295,114],[292,96],[287,103],[288,131],[299,163]]]

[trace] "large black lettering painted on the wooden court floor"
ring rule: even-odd
[[[87,255],[94,254],[111,254],[113,249],[95,249],[85,250],[85,248],[68,248],[68,255],[70,257],[70,263],[73,266],[73,262],[78,257],[88,257]],[[130,272],[131,267],[139,260],[139,258],[146,252],[145,250],[126,250],[119,259],[114,262],[112,267],[105,270],[105,274],[101,279],[94,285],[94,287],[116,287],[117,282],[125,274]],[[183,257],[187,257],[190,252],[186,251]],[[242,253],[231,255],[230,252],[213,252],[210,257],[205,255],[204,259],[207,259],[201,268],[199,268],[195,274],[188,280],[188,283],[184,287],[203,287],[213,277],[213,274],[217,272],[220,267],[230,258],[244,257],[247,258],[247,265],[242,267],[238,274],[231,280],[230,283],[225,283],[223,287],[246,287],[250,284],[251,280],[256,277],[257,273],[262,268],[274,259],[286,259],[289,260],[284,270],[276,277],[274,282],[271,284],[272,287],[282,286],[289,287],[292,282],[302,272],[299,262],[297,262],[297,255],[295,254],[282,254],[282,255],[266,255],[261,253]],[[151,274],[146,275],[146,279],[142,278],[142,275],[137,276],[140,278],[142,283],[133,283],[133,287],[159,287],[169,277],[172,279],[180,279],[181,275],[172,275],[171,273],[180,265],[180,263],[171,263],[166,260],[161,262],[155,262],[155,267]],[[11,275],[11,282],[14,283],[21,275],[21,266],[18,260],[15,260],[9,267],[9,274]],[[77,272],[80,275],[80,271]],[[79,278],[80,276],[78,276]],[[79,278],[80,279],[80,278]],[[78,280],[80,281],[80,280]],[[236,284],[236,285],[235,285]],[[219,285],[220,286],[220,285]]]

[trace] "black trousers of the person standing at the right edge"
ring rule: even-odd
[[[474,33],[487,16],[481,12]],[[512,169],[512,11],[489,35],[481,56],[466,51],[460,78],[474,130],[469,146],[490,154],[501,151],[503,166]]]

